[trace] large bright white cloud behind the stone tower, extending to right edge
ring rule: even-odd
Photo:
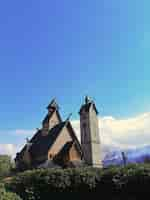
[[[80,138],[79,121],[72,121]],[[99,118],[102,146],[120,149],[138,148],[150,144],[150,113],[144,113],[128,119],[116,119],[112,116]]]

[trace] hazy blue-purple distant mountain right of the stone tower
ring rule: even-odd
[[[105,147],[103,151],[104,151],[104,157],[103,157],[104,166],[123,164],[121,149],[117,149],[116,147],[115,148]],[[144,162],[145,160],[150,161],[150,146],[128,149],[125,150],[124,152],[127,157],[127,163],[141,163]]]

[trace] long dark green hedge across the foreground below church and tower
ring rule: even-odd
[[[128,165],[107,169],[38,169],[18,174],[7,189],[24,200],[48,200],[51,195],[80,194],[105,199],[143,199],[150,195],[150,165]]]

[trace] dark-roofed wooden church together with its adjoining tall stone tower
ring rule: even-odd
[[[16,154],[16,168],[21,171],[53,167],[101,167],[98,111],[95,103],[86,97],[80,108],[81,143],[70,118],[62,121],[55,99],[47,110],[42,128]]]

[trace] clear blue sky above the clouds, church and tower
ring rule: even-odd
[[[0,130],[39,127],[53,97],[64,118],[72,112],[78,119],[86,94],[101,116],[150,112],[149,6],[149,0],[2,1]],[[11,140],[1,134],[1,143]]]

